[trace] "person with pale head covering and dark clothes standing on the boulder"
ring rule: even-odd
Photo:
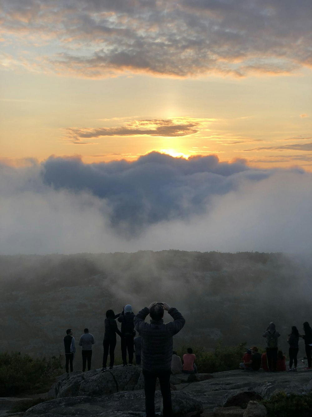
[[[132,312],[132,306],[127,304],[124,306],[118,317],[118,321],[121,323],[121,358],[123,366],[127,366],[127,349],[129,355],[129,366],[131,366],[133,362],[133,340],[135,336],[133,320],[134,313]]]

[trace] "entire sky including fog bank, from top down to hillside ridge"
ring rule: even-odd
[[[0,0],[0,253],[312,251],[310,0]]]

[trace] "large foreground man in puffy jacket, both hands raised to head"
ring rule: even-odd
[[[173,318],[173,322],[163,323],[163,311]],[[150,315],[151,322],[144,320]],[[172,416],[170,375],[173,336],[180,332],[185,324],[182,314],[167,303],[152,302],[144,307],[134,318],[136,330],[142,337],[141,360],[144,376],[146,417],[155,416],[156,379],[159,379],[163,397],[163,417]]]

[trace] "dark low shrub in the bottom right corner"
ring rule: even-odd
[[[277,392],[269,400],[262,400],[261,403],[267,409],[268,417],[310,417],[312,392],[303,395]]]

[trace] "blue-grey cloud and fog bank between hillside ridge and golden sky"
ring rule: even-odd
[[[152,152],[0,169],[2,254],[312,250],[312,175],[296,168]]]

